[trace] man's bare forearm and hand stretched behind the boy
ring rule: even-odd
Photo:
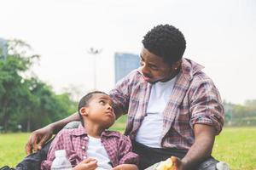
[[[42,127],[30,135],[26,143],[26,154],[29,155],[33,151],[41,150],[42,146],[52,137],[53,134],[58,133],[68,122],[79,121],[79,113],[75,112],[58,122],[53,122],[46,127]]]

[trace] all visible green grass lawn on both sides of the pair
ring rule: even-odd
[[[113,129],[123,131],[125,118]],[[25,155],[29,133],[0,134],[0,167],[14,167]],[[230,164],[232,170],[256,170],[256,127],[225,127],[217,137],[212,156]]]

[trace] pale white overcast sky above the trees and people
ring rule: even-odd
[[[0,0],[0,37],[30,44],[41,56],[32,71],[56,93],[79,99],[114,86],[113,54],[140,54],[154,26],[176,26],[183,57],[204,65],[222,99],[256,99],[254,0]],[[90,48],[102,49],[92,56]]]

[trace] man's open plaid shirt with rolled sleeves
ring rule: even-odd
[[[224,124],[224,107],[218,89],[201,71],[203,66],[182,60],[172,94],[164,110],[161,145],[163,148],[189,149],[195,142],[196,123],[215,127],[220,133]],[[132,71],[110,92],[116,113],[128,113],[125,134],[135,139],[146,116],[152,84],[146,82],[140,69]]]

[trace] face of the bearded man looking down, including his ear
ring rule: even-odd
[[[178,66],[179,62],[170,65],[160,56],[150,53],[148,49],[142,49],[140,69],[147,82],[167,82],[176,73]]]

